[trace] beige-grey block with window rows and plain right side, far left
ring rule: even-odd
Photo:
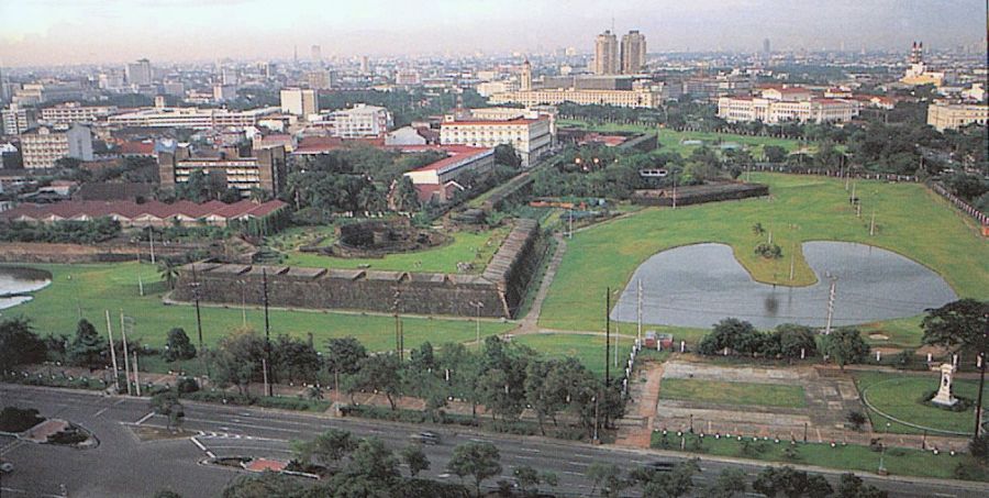
[[[21,155],[29,169],[52,169],[63,157],[92,161],[92,133],[81,124],[68,130],[41,126],[21,134]]]

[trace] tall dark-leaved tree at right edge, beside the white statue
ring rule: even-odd
[[[989,301],[960,299],[927,310],[921,322],[924,344],[935,344],[953,351],[975,353],[979,357],[979,394],[976,400],[975,438],[980,434],[982,389],[986,386],[986,361],[989,361]]]

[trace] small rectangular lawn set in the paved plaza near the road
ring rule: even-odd
[[[807,396],[802,387],[778,384],[665,378],[659,387],[659,398],[719,405],[807,408]]]

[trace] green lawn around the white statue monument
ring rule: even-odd
[[[935,390],[941,380],[940,374],[893,375],[879,372],[856,372],[855,384],[859,392],[876,408],[897,419],[918,425],[955,432],[971,432],[975,423],[975,400],[978,396],[978,380],[955,379],[952,391],[956,396],[968,398],[973,406],[966,411],[951,411],[921,403],[921,398]],[[869,386],[874,386],[869,388]],[[989,395],[989,388],[986,389]],[[989,407],[989,396],[982,397],[982,407]],[[889,420],[869,410],[869,419],[875,432],[886,430]],[[902,434],[920,434],[923,430],[889,421],[889,431]]]

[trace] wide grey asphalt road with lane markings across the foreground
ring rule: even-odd
[[[199,462],[208,456],[207,452],[216,456],[287,458],[290,440],[310,439],[327,428],[348,430],[358,436],[374,435],[398,450],[409,443],[410,434],[421,430],[409,424],[186,402],[185,427],[197,434],[195,442],[190,439],[140,442],[125,424],[138,421],[165,424],[163,418],[149,414],[146,399],[0,385],[0,406],[10,405],[35,407],[46,417],[59,417],[84,425],[100,439],[101,444],[95,450],[77,451],[0,439],[0,455],[16,466],[13,474],[3,477],[4,498],[151,496],[166,487],[187,498],[216,496],[237,474],[200,465]],[[464,432],[449,427],[436,430],[444,435],[443,444],[425,447],[432,463],[426,474],[431,477],[457,479],[444,471],[453,447],[468,440],[484,440],[499,447],[503,476],[510,475],[512,467],[519,465],[552,471],[560,478],[557,491],[570,496],[589,495],[591,484],[584,478],[584,473],[592,462],[614,463],[627,468],[655,460],[682,460],[660,452]],[[730,466],[741,467],[749,474],[762,469],[758,465],[705,460],[694,483],[702,486]],[[832,480],[836,477],[837,474],[829,476]],[[498,479],[491,479],[491,484],[494,480]],[[976,497],[989,493],[989,487],[969,483],[879,477],[866,480],[890,490],[893,496],[904,497]]]

